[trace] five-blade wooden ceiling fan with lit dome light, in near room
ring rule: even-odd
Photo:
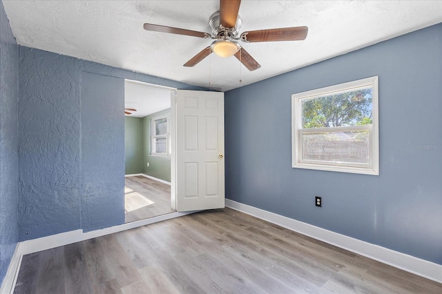
[[[253,30],[242,32],[239,29],[242,25],[242,19],[238,15],[241,0],[220,0],[220,11],[215,12],[209,19],[209,25],[212,34],[208,32],[197,32],[195,30],[186,30],[182,28],[172,28],[170,26],[159,26],[151,23],[144,23],[144,30],[154,32],[168,32],[177,35],[186,35],[191,37],[200,37],[204,39],[215,39],[208,46],[201,50],[197,55],[184,63],[184,66],[195,66],[202,59],[208,57],[214,52],[220,57],[235,57],[250,71],[260,68],[260,64],[244,50],[238,41],[245,43],[269,42],[269,41],[298,41],[307,37],[308,28],[298,26],[291,28],[273,28],[269,30]],[[239,35],[239,37],[238,37]]]

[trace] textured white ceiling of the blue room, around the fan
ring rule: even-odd
[[[235,57],[213,54],[184,68],[211,40],[143,29],[144,23],[155,23],[211,32],[208,20],[218,11],[216,0],[3,4],[20,45],[222,91],[442,22],[442,1],[243,0],[240,32],[309,28],[304,41],[242,43],[262,66],[249,72]]]

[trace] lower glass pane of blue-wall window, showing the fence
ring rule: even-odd
[[[369,131],[302,133],[302,159],[369,163]]]

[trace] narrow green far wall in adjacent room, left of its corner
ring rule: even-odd
[[[124,117],[125,175],[143,173],[142,117]]]

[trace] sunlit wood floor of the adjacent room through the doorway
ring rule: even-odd
[[[143,176],[126,177],[124,210],[125,223],[173,213],[171,186]]]

